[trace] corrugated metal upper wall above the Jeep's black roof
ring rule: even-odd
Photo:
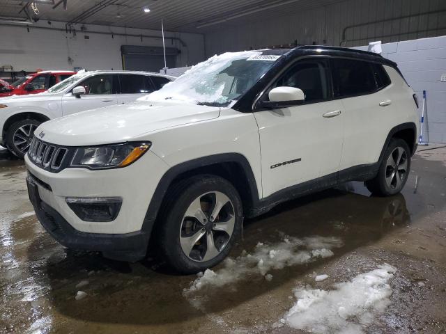
[[[206,56],[294,41],[352,47],[439,35],[446,35],[446,0],[346,0],[257,21],[247,17],[224,29],[215,26],[206,33]]]

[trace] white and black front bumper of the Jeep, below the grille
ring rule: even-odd
[[[50,173],[25,157],[26,183],[38,220],[68,248],[101,251],[105,257],[134,262],[146,255],[151,230],[144,229],[153,192],[167,165],[152,152],[125,168],[86,170],[66,168]],[[151,173],[148,175],[147,170]],[[123,199],[113,221],[82,221],[66,202],[68,197]]]

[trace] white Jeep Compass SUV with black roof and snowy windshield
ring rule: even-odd
[[[150,241],[202,271],[279,202],[350,180],[401,191],[416,103],[397,65],[366,51],[226,53],[138,102],[40,125],[29,197],[63,246],[137,261]]]

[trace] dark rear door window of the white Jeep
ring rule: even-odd
[[[373,64],[352,59],[333,59],[334,96],[348,97],[376,91]]]

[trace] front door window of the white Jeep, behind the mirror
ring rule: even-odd
[[[298,61],[272,87],[295,87],[305,94],[305,103],[330,98],[328,62],[325,60]]]

